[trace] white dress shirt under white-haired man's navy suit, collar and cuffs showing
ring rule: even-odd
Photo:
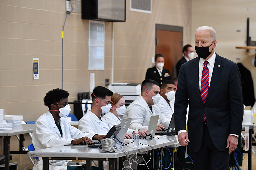
[[[210,57],[207,60],[208,61],[207,67],[208,67],[208,70],[209,70],[209,88],[210,88],[210,83],[211,83],[211,79],[212,79],[212,75],[213,75],[213,67],[214,67],[214,63],[215,63],[215,58],[216,58],[216,54],[215,54],[215,52],[213,52],[212,57]],[[201,80],[202,80],[202,72],[203,72],[204,61],[205,60],[203,58],[200,58],[200,60],[199,60],[199,91],[201,91]],[[206,120],[207,120],[207,117],[206,117]],[[186,130],[179,130],[178,135],[181,132],[187,132],[187,131]],[[238,137],[238,135],[236,135],[236,134],[230,134],[230,135]]]

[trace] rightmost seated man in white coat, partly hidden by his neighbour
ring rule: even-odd
[[[174,113],[174,101],[175,101],[176,85],[171,80],[165,80],[160,88],[161,99],[156,104],[163,114],[168,119],[171,119]]]

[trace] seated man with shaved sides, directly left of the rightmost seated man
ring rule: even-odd
[[[132,118],[130,129],[148,129],[151,116],[159,115],[157,130],[167,127],[170,119],[161,114],[160,109],[155,105],[160,100],[159,84],[154,80],[144,80],[141,87],[141,95],[134,100],[126,109],[123,119]]]

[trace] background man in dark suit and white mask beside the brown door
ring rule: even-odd
[[[177,62],[176,64],[176,76],[179,75],[179,70],[181,68],[181,65],[188,62],[192,58],[194,58],[195,52],[193,47],[190,44],[187,44],[183,47],[182,52],[184,56]]]

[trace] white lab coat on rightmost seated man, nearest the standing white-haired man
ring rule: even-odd
[[[160,109],[161,114],[163,114],[168,119],[171,119],[174,110],[173,107],[171,108],[171,106],[173,106],[171,105],[171,102],[169,105],[169,103],[161,96],[161,99],[155,105]]]

